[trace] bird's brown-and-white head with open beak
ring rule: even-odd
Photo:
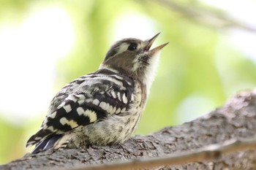
[[[159,60],[160,50],[168,43],[150,50],[159,34],[145,41],[140,39],[121,39],[108,50],[100,69],[113,69],[144,83],[150,83]]]

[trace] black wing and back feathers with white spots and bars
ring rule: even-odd
[[[80,77],[64,88],[53,98],[41,129],[31,136],[27,146],[37,144],[38,147],[41,144],[41,147],[45,147],[44,141],[53,136],[125,112],[129,108],[133,90],[132,80],[99,73]]]

